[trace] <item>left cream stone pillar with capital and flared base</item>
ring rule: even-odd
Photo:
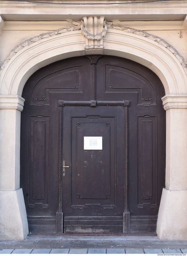
[[[28,223],[20,188],[20,114],[24,99],[0,95],[0,239],[23,240]]]

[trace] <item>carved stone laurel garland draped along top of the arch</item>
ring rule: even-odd
[[[9,62],[9,60],[20,50],[22,50],[24,47],[29,46],[30,44],[33,44],[34,42],[40,41],[42,39],[45,38],[49,38],[52,36],[58,36],[59,34],[62,34],[64,32],[67,31],[76,31],[76,30],[82,30],[82,33],[84,36],[88,36],[91,37],[90,39],[94,39],[94,40],[100,40],[101,38],[103,38],[103,36],[105,36],[106,34],[106,30],[107,28],[109,29],[116,29],[116,30],[122,30],[125,31],[127,33],[131,33],[131,34],[136,34],[139,36],[143,36],[145,38],[149,38],[150,40],[153,40],[155,42],[157,42],[158,44],[161,44],[162,46],[164,46],[165,48],[167,48],[167,50],[169,50],[173,55],[175,55],[175,57],[179,60],[180,64],[183,66],[185,73],[187,74],[187,62],[185,62],[184,58],[179,54],[179,52],[177,52],[177,50],[175,48],[173,48],[173,46],[171,46],[171,44],[169,44],[168,42],[166,42],[165,40],[161,39],[158,36],[154,36],[152,34],[149,34],[147,32],[144,32],[142,30],[137,30],[134,28],[129,28],[129,27],[123,27],[123,26],[116,26],[114,25],[112,22],[106,22],[105,27],[103,28],[103,31],[97,35],[97,38],[95,38],[94,35],[89,34],[83,26],[83,22],[82,21],[74,21],[74,20],[67,20],[68,22],[71,22],[72,25],[74,26],[69,26],[66,28],[60,28],[56,31],[52,31],[52,32],[47,32],[44,34],[40,34],[39,36],[35,36],[33,38],[30,38],[28,40],[25,40],[24,42],[22,42],[21,44],[19,44],[18,46],[16,46],[11,52],[10,54],[6,57],[6,59],[4,60],[4,62],[2,63],[0,70],[2,70],[6,64]],[[85,31],[84,31],[85,30]],[[94,36],[94,38],[92,38]]]

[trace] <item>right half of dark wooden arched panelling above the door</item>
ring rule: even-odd
[[[97,98],[105,97],[112,100],[113,95],[121,100],[131,98],[136,94],[138,105],[156,105],[157,99],[164,95],[163,85],[159,78],[148,68],[123,58],[105,56],[98,60],[97,69]]]

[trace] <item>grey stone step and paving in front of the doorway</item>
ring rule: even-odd
[[[185,240],[157,236],[28,236],[0,241],[0,254],[187,254]]]

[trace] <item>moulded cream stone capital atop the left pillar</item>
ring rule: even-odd
[[[23,110],[24,98],[19,95],[0,95],[0,109]]]

